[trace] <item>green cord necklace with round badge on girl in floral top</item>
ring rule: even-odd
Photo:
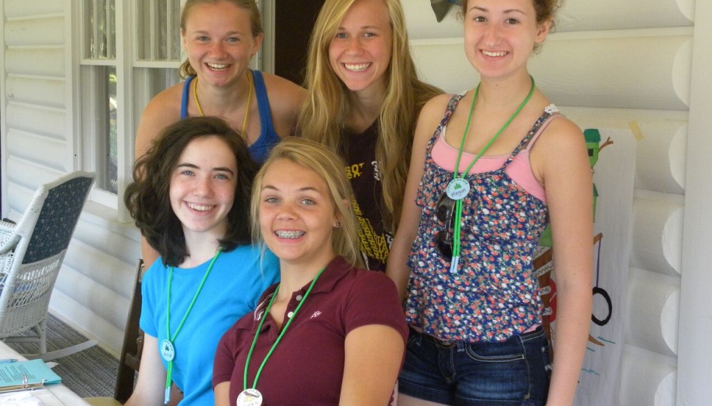
[[[536,85],[534,83],[534,78],[530,75],[529,76],[532,80],[532,87],[529,90],[529,94],[527,97],[524,98],[523,102],[517,107],[515,112],[509,117],[509,119],[503,124],[502,128],[499,129],[499,131],[494,134],[494,137],[492,137],[488,143],[484,146],[481,151],[477,154],[477,156],[474,157],[474,159],[470,162],[470,164],[467,166],[467,169],[465,169],[460,175],[457,174],[458,169],[460,169],[460,158],[462,156],[462,150],[464,149],[465,146],[465,139],[467,137],[467,132],[470,129],[470,122],[472,120],[472,113],[475,110],[475,103],[477,101],[477,96],[480,92],[480,85],[477,85],[477,89],[475,90],[475,95],[472,97],[472,104],[470,105],[470,112],[467,116],[467,124],[465,124],[465,131],[462,134],[462,140],[460,141],[460,149],[457,153],[457,161],[455,163],[455,171],[454,171],[454,177],[450,183],[448,183],[448,186],[446,188],[446,193],[449,198],[455,201],[455,226],[454,226],[454,233],[453,233],[453,244],[452,244],[452,262],[450,263],[450,272],[455,273],[457,272],[457,266],[460,262],[460,231],[461,231],[461,220],[462,220],[462,200],[465,196],[470,191],[470,183],[465,179],[465,175],[470,172],[470,169],[472,169],[472,166],[474,166],[475,162],[480,159],[480,156],[482,156],[485,151],[494,143],[494,141],[499,137],[500,134],[504,132],[504,130],[509,127],[509,124],[515,119],[515,117],[518,116],[519,112],[522,111],[524,106],[529,102],[529,99],[532,97],[534,94],[534,89],[536,88]]]

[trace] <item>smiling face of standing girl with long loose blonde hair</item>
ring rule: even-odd
[[[392,31],[383,0],[356,0],[329,45],[329,61],[352,92],[384,92]]]

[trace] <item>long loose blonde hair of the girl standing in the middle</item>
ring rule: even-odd
[[[326,0],[319,12],[309,43],[304,83],[309,94],[298,120],[303,137],[319,141],[335,151],[342,151],[343,123],[351,105],[348,88],[331,68],[329,46],[355,1]],[[425,102],[442,91],[418,79],[400,1],[383,1],[392,30],[392,53],[384,73],[386,92],[378,117],[376,159],[383,189],[384,225],[395,232],[403,205],[417,116]]]

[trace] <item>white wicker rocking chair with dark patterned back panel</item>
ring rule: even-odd
[[[0,222],[0,340],[47,352],[49,299],[94,174],[73,172],[39,186],[15,225]],[[26,336],[33,330],[36,336]]]

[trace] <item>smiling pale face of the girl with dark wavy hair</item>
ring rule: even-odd
[[[237,161],[229,146],[214,136],[190,141],[171,175],[171,208],[186,240],[219,240],[228,230],[228,213],[237,185]]]

